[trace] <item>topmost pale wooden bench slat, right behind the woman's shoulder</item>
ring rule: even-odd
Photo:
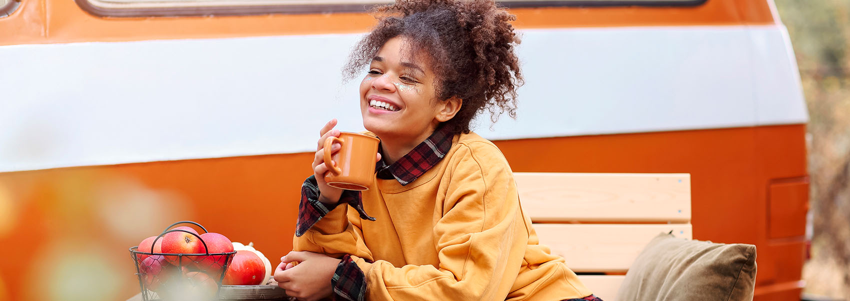
[[[514,173],[535,222],[688,223],[689,173]]]

